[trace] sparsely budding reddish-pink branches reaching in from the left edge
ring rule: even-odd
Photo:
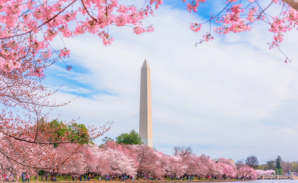
[[[7,48],[2,44],[3,47]],[[75,120],[57,127],[47,120],[49,112],[44,111],[69,102],[56,104],[49,100],[56,91],[47,91],[40,79],[32,76],[28,69],[38,60],[32,62],[34,55],[28,53],[27,56],[18,69],[0,70],[0,154],[2,162],[10,162],[2,171],[18,176],[23,171],[34,175],[36,169],[56,171],[75,160],[77,151],[82,148],[81,142],[90,141],[109,129],[72,125],[71,130],[59,133]],[[47,64],[50,63],[44,66]],[[72,148],[64,148],[63,144],[67,143],[72,144]]]

